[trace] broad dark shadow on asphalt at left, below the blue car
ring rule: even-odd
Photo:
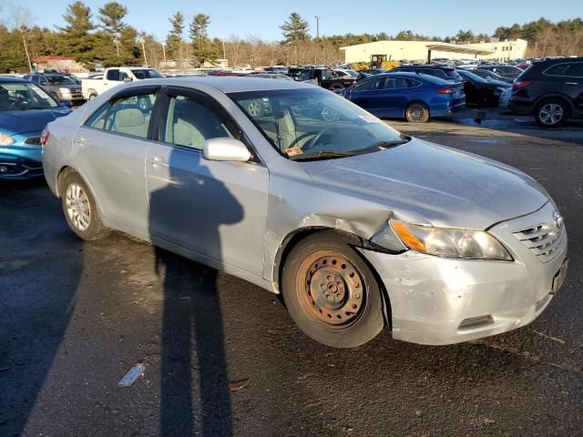
[[[0,435],[20,435],[65,338],[85,254],[44,178],[0,181],[0,205]]]

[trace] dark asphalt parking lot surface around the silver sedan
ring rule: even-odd
[[[334,350],[277,296],[122,235],[83,243],[43,181],[2,184],[0,435],[583,435],[583,129],[391,125],[555,198],[570,270],[539,319],[454,346],[385,331]],[[138,362],[144,376],[118,387]]]

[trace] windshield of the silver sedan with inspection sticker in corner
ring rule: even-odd
[[[404,136],[379,118],[323,89],[252,91],[229,97],[288,158],[322,152],[354,155],[404,142]]]

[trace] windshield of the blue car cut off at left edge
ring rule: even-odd
[[[0,83],[0,111],[59,107],[53,97],[34,84]]]

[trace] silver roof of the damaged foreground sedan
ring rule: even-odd
[[[142,83],[143,82],[143,83]],[[245,91],[266,91],[276,89],[320,88],[292,80],[273,80],[267,77],[256,77],[249,80],[245,76],[189,76],[153,78],[146,81],[131,82],[131,85],[166,85],[166,86],[213,86],[225,94]],[[132,86],[133,87],[133,86]]]

